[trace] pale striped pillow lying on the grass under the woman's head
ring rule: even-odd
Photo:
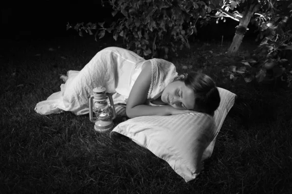
[[[214,117],[204,113],[141,116],[120,123],[110,136],[120,133],[131,138],[166,161],[186,182],[195,179],[202,161],[211,156],[216,136],[234,105],[236,95],[218,89],[221,101]]]

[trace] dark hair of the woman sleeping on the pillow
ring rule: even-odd
[[[220,95],[216,83],[206,74],[190,72],[178,78],[195,93],[194,111],[214,115],[220,104]]]

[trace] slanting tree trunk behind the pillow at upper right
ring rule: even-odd
[[[237,30],[233,37],[231,46],[229,47],[227,51],[228,56],[234,56],[237,53],[237,50],[239,49],[241,45],[244,33],[246,32],[246,29],[251,20],[251,17],[254,15],[257,9],[258,9],[258,4],[251,4],[245,8],[245,12],[242,18],[240,18],[239,20],[239,25],[237,26]]]

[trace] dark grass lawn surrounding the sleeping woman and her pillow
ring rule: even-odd
[[[34,112],[37,102],[59,91],[60,73],[81,69],[97,51],[116,43],[78,37],[6,43],[0,57],[1,194],[292,192],[292,91],[280,84],[224,81],[222,67],[238,65],[222,54],[227,43],[196,43],[173,59],[179,71],[180,65],[195,63],[193,69],[203,69],[238,96],[205,169],[188,183],[127,138],[95,132],[88,115]],[[241,48],[244,54],[251,46]]]

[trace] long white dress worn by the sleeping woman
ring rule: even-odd
[[[152,65],[151,85],[147,102],[161,95],[165,86],[178,75],[176,67],[163,59],[147,60]],[[127,104],[136,79],[146,60],[136,53],[118,47],[99,51],[81,71],[68,71],[68,80],[61,91],[38,102],[35,111],[40,114],[70,111],[76,115],[89,113],[89,100],[93,88],[103,86],[113,93],[114,104]]]

